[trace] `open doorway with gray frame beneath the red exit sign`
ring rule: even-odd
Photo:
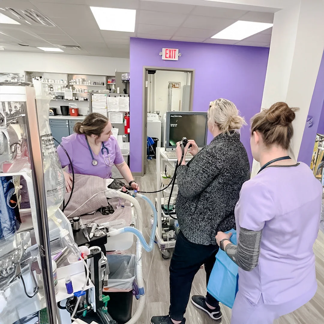
[[[164,146],[166,112],[192,110],[193,82],[193,69],[144,67],[142,175],[146,173],[147,137],[158,139],[153,146]],[[152,149],[149,154],[155,157]]]

